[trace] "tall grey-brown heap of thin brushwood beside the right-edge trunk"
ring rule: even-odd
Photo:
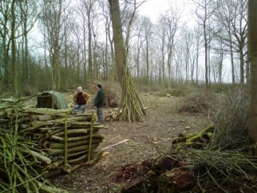
[[[246,147],[248,131],[249,91],[235,88],[220,98],[209,112],[215,126],[212,149],[239,149]]]

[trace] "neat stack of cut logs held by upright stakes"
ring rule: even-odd
[[[0,127],[18,126],[19,138],[33,144],[30,153],[41,162],[44,178],[51,178],[90,161],[103,140],[98,131],[106,127],[95,123],[94,112],[68,114],[69,110],[5,108],[0,111]]]

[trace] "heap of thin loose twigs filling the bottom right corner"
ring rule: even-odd
[[[180,149],[195,174],[192,192],[256,192],[257,159],[236,151]]]

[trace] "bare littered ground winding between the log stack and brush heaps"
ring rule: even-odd
[[[128,141],[107,149],[98,164],[53,178],[53,185],[69,192],[119,192],[124,182],[117,178],[124,166],[158,157],[160,152],[169,152],[171,141],[179,133],[195,133],[208,125],[202,114],[177,114],[176,106],[181,98],[142,94],[141,99],[147,107],[147,119],[131,124],[105,122],[108,129],[100,132],[105,139],[98,149]],[[105,109],[106,113],[108,110]]]

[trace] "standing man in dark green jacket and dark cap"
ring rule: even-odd
[[[96,114],[98,115],[98,122],[103,124],[104,117],[103,117],[103,102],[105,100],[105,93],[103,91],[102,85],[98,84],[96,86],[98,88],[98,93],[95,97],[95,107],[97,108]]]

